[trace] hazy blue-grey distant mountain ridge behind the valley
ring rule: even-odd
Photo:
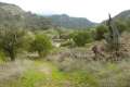
[[[48,17],[52,21],[53,25],[65,28],[87,28],[96,25],[96,23],[93,23],[84,17],[70,17],[66,14],[50,15]]]

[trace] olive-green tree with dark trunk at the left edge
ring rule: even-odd
[[[16,53],[24,46],[23,29],[18,29],[14,26],[3,27],[0,29],[0,49],[14,61]]]

